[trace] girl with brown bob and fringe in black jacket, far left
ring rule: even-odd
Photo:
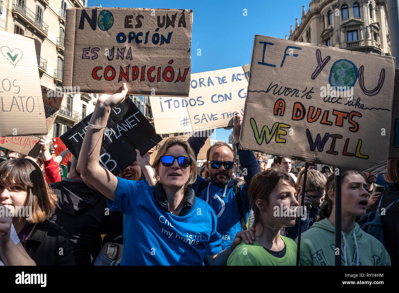
[[[75,265],[68,234],[47,219],[56,200],[30,159],[0,163],[0,203],[10,209],[18,238],[36,265]]]

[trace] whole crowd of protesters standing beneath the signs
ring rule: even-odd
[[[99,164],[98,142],[126,93],[124,84],[99,98],[62,179],[68,151],[53,157],[47,136],[37,157],[5,151],[0,265],[295,265],[299,230],[300,265],[334,264],[334,167],[309,163],[296,173],[288,157],[240,149],[237,112],[237,174],[224,142],[198,168],[207,137],[192,136],[170,138],[156,154],[136,150],[115,176]],[[341,170],[342,265],[399,264],[399,161],[388,160],[387,170]],[[362,229],[367,213],[384,209],[383,238]]]

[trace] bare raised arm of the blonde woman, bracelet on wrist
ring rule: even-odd
[[[111,200],[115,199],[118,179],[110,171],[99,164],[101,142],[103,141],[103,126],[107,125],[109,114],[113,107],[124,101],[127,94],[126,83],[112,96],[102,95],[87,127],[82,148],[80,150],[76,169],[98,191]],[[94,126],[93,126],[94,125]],[[101,128],[100,128],[101,127]]]

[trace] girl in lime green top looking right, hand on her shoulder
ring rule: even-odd
[[[295,265],[295,242],[280,235],[282,227],[294,226],[295,182],[288,173],[268,169],[251,180],[249,198],[254,213],[253,244],[241,242],[227,265]]]

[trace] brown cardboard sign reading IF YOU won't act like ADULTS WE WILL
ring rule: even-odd
[[[241,146],[383,173],[393,83],[392,57],[255,35]]]

